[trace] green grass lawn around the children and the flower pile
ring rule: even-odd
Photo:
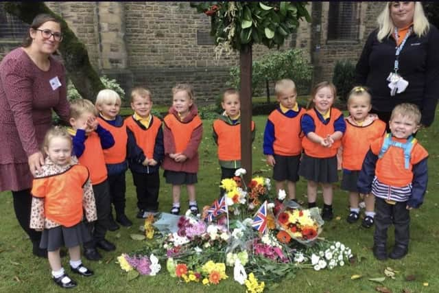
[[[265,165],[262,154],[263,128],[265,116],[254,117],[257,124],[257,136],[253,144],[253,172],[270,177],[272,171]],[[200,207],[211,204],[218,194],[220,170],[217,164],[216,149],[211,138],[212,121],[204,121],[204,138],[200,146],[200,172],[197,185],[197,197]],[[357,261],[333,270],[301,270],[296,277],[284,279],[278,284],[267,284],[267,292],[376,292],[378,286],[385,286],[392,292],[439,292],[439,277],[436,266],[439,259],[439,121],[428,129],[418,133],[418,140],[429,151],[429,188],[423,207],[411,212],[410,253],[402,260],[377,261],[372,255],[372,229],[361,228],[360,224],[347,224],[348,198],[344,191],[335,186],[334,211],[335,220],[324,225],[322,237],[343,242],[350,246],[357,256]],[[142,221],[135,218],[137,213],[136,196],[130,173],[127,174],[127,209],[130,219],[134,221],[131,228],[108,232],[108,239],[117,244],[113,253],[104,253],[99,262],[84,260],[87,266],[95,270],[95,277],[88,279],[75,277],[79,286],[75,292],[245,292],[245,287],[233,281],[233,270],[228,269],[229,279],[219,285],[204,287],[195,283],[179,283],[178,279],[169,277],[163,268],[156,277],[139,277],[127,281],[125,272],[115,263],[121,253],[129,253],[142,247],[143,242],[130,239],[130,233],[137,233]],[[298,183],[298,200],[306,202],[306,182]],[[318,197],[322,205],[321,194]],[[162,180],[160,191],[160,209],[169,211],[171,192]],[[182,194],[182,211],[187,209],[187,195]],[[0,292],[64,292],[58,289],[50,279],[49,263],[45,259],[34,257],[27,236],[16,221],[10,192],[0,194],[1,238],[0,238]],[[393,242],[393,231],[389,242]],[[68,257],[63,264],[68,268]],[[386,278],[382,284],[368,281],[370,278],[384,277],[384,269],[390,267],[398,273],[395,279]],[[67,269],[69,272],[69,269]],[[351,280],[353,274],[361,274],[360,279]],[[412,281],[407,281],[413,279]],[[428,283],[425,285],[424,283]]]

